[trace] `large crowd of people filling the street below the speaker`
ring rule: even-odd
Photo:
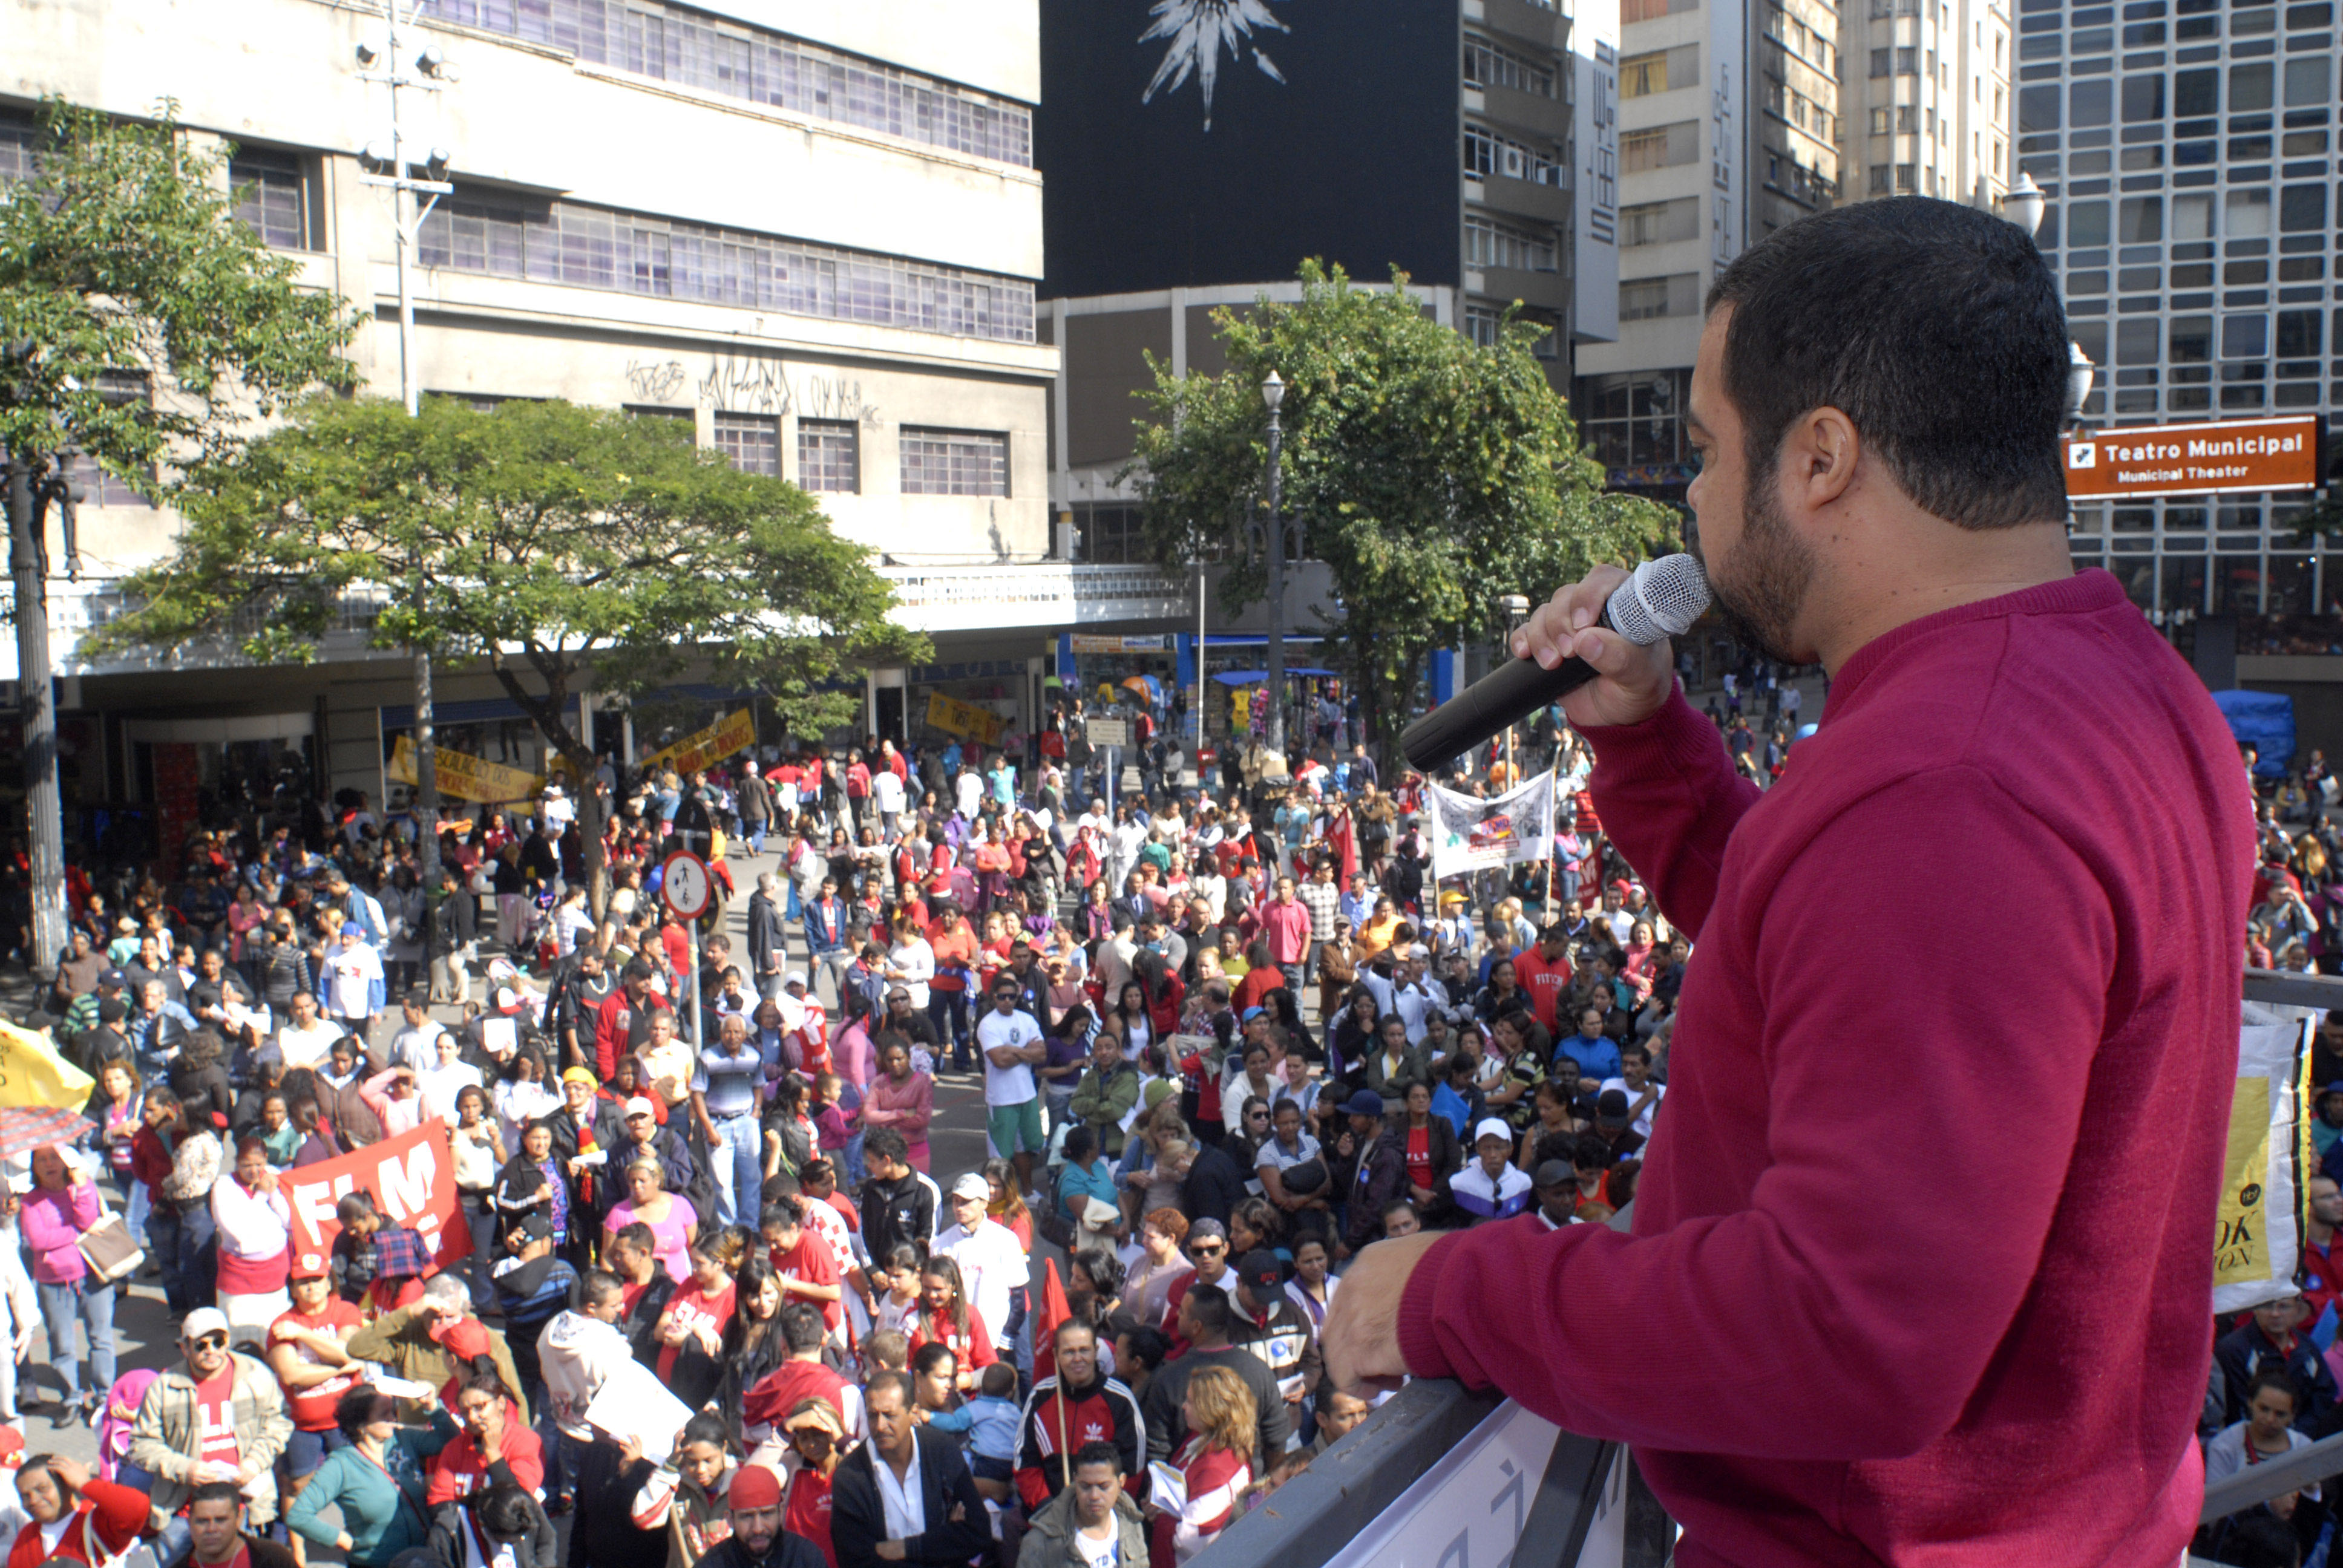
[[[1364,748],[1108,806],[1047,738],[651,773],[600,909],[560,788],[450,825],[436,888],[363,799],[77,872],[49,1010],[91,1130],[9,1200],[9,1305],[101,1463],[23,1463],[35,1561],[527,1568],[567,1514],[572,1568],[1169,1566],[1368,1413],[1317,1350],[1357,1249],[1631,1200],[1689,947],[1551,715],[1551,863],[1446,886],[1425,780]],[[719,886],[773,855],[738,949],[658,898],[698,809]],[[937,1083],[993,1158],[935,1170]],[[363,1188],[295,1245],[288,1172],[426,1120],[464,1256]],[[162,1376],[117,1378],[108,1207]],[[679,1430],[595,1406],[621,1362]]]

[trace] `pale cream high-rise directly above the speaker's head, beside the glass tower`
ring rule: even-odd
[[[1851,0],[1839,26],[1846,199],[1996,211],[2015,173],[2008,0]]]

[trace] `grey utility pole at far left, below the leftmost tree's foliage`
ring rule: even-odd
[[[28,354],[19,345],[12,356]],[[49,499],[73,504],[63,473],[33,452],[7,464],[9,572],[16,579],[16,689],[23,708],[23,804],[33,867],[33,973],[52,980],[66,956],[66,820],[56,788],[56,687],[49,677]],[[70,513],[68,513],[70,516]]]

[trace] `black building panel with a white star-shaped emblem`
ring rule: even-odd
[[[1457,284],[1457,70],[1455,0],[1040,0],[1043,295]]]

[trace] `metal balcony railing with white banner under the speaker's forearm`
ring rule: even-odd
[[[2343,977],[2247,970],[2245,998],[2343,1010]],[[1614,1223],[1626,1221],[1626,1212]],[[1535,1453],[1532,1465],[1521,1455]],[[2343,1474],[2343,1437],[2205,1488],[2205,1519]],[[1490,1535],[1490,1540],[1483,1540]],[[1209,1568],[1661,1568],[1675,1526],[1624,1444],[1563,1432],[1497,1392],[1418,1378],[1237,1519]]]

